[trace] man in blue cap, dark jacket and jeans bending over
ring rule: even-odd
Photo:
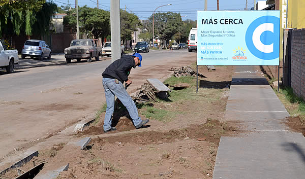
[[[135,102],[123,86],[124,82],[127,86],[131,84],[131,80],[128,79],[130,70],[131,68],[136,68],[136,66],[142,66],[141,62],[142,56],[139,53],[123,55],[120,59],[111,63],[103,72],[103,86],[107,103],[103,126],[105,133],[116,130],[115,127],[111,126],[111,118],[114,111],[114,96],[116,96],[121,103],[125,105],[136,129],[141,128],[149,121],[148,119],[141,120]]]

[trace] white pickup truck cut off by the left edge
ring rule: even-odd
[[[8,74],[14,72],[14,64],[19,64],[17,50],[5,50],[0,41],[0,68],[6,68]]]

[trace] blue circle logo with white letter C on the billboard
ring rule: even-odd
[[[260,59],[279,58],[280,18],[263,16],[254,20],[246,32],[246,45],[249,51]]]

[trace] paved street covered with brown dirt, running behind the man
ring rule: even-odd
[[[196,62],[196,53],[187,50],[151,50],[141,54],[142,67],[132,70],[133,85],[129,91],[147,78],[166,78],[171,66]],[[0,75],[0,144],[5,144],[1,145],[0,156],[95,114],[105,101],[101,73],[110,62],[110,58],[73,62]]]

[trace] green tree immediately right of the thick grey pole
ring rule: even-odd
[[[120,10],[120,34],[123,42],[131,40],[131,34],[141,26],[138,16]]]

